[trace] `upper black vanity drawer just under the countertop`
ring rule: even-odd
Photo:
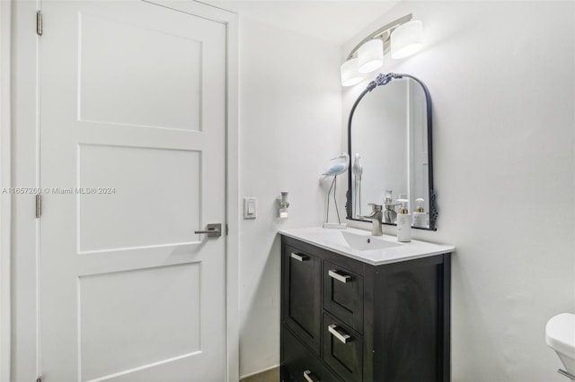
[[[323,308],[363,333],[363,277],[330,262],[323,263]]]

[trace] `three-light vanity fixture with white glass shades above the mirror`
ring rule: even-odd
[[[362,39],[351,49],[341,64],[341,84],[352,86],[364,79],[364,74],[384,65],[384,54],[391,50],[392,58],[404,58],[422,46],[421,22],[411,20],[411,13],[390,22]]]

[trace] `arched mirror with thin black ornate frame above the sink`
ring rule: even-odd
[[[368,204],[380,204],[384,223],[395,224],[398,199],[405,198],[412,227],[435,230],[431,100],[425,84],[409,74],[379,74],[351,109],[348,140],[348,219],[367,221]]]

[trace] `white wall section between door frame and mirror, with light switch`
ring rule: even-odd
[[[240,197],[258,198],[257,219],[240,223],[240,376],[279,365],[276,232],[323,221],[320,174],[342,146],[340,54],[240,19]],[[276,218],[281,191],[287,221]]]

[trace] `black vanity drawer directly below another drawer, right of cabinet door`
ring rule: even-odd
[[[323,361],[346,382],[363,380],[363,337],[323,314]]]

